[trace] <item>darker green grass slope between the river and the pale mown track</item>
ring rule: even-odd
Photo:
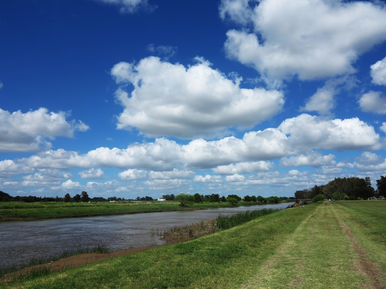
[[[7,288],[235,288],[318,205],[291,208],[189,242],[66,269]],[[5,288],[1,287],[1,288]]]

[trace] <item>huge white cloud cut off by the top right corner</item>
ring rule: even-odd
[[[225,50],[268,79],[352,73],[357,57],[386,39],[386,10],[371,2],[223,0],[220,16],[253,25],[253,33],[229,30]]]

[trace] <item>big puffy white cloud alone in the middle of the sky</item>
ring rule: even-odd
[[[263,88],[242,89],[241,78],[230,79],[196,58],[193,66],[147,57],[138,64],[120,62],[112,70],[119,84],[132,84],[129,94],[116,97],[124,106],[117,128],[137,128],[150,137],[214,138],[228,128],[250,128],[281,111],[284,96]]]

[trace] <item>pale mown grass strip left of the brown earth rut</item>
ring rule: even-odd
[[[351,249],[330,204],[322,203],[241,288],[369,288],[369,278],[356,271]]]

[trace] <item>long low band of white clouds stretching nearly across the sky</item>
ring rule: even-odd
[[[317,116],[301,114],[296,118],[283,121],[278,128],[245,133],[243,138],[226,137],[216,141],[195,139],[188,144],[178,144],[166,138],[157,138],[154,143],[134,143],[125,149],[97,148],[80,155],[62,149],[46,151],[19,160],[22,165],[33,168],[92,168],[115,167],[121,169],[170,171],[168,174],[152,173],[159,178],[190,175],[189,171],[174,168],[185,166],[193,169],[217,168],[218,172],[229,171],[224,167],[232,163],[267,161],[286,156],[307,153],[312,149],[321,150],[374,150],[379,149],[380,137],[374,128],[359,120],[326,120]],[[333,156],[307,156],[308,165],[315,163],[332,164]],[[297,162],[288,159],[286,162]],[[236,166],[235,173],[253,168],[263,169],[269,163],[250,163]],[[141,171],[127,171],[123,179],[135,178],[146,174]]]

